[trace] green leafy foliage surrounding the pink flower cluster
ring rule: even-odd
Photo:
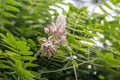
[[[0,80],[119,80],[120,1],[110,2],[118,9],[103,5],[115,16],[102,6],[104,14],[89,15],[86,7],[78,9],[62,0],[0,0]],[[69,11],[56,3],[69,6]],[[68,46],[60,46],[48,59],[41,56],[40,39],[47,37],[44,27],[58,16],[50,6],[66,15]],[[103,47],[96,45],[95,37]]]

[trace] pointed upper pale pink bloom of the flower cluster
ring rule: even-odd
[[[59,15],[57,17],[56,23],[52,22],[50,25],[48,25],[47,28],[44,28],[44,30],[48,35],[54,36],[61,45],[67,45],[67,42],[65,42],[67,34],[66,17],[64,15]]]

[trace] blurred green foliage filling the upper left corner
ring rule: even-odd
[[[50,9],[50,6],[59,1],[1,0],[1,31],[7,32],[9,29],[18,36],[24,35],[26,37],[41,35],[43,26],[46,26],[51,21],[49,10],[52,11],[52,9]]]

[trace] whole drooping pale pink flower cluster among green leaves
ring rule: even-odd
[[[52,22],[47,28],[44,28],[45,32],[49,35],[48,39],[42,38],[42,55],[51,58],[52,53],[57,53],[58,44],[63,46],[67,45],[66,42],[66,18],[64,15],[57,17],[56,23]]]

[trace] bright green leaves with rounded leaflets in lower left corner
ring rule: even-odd
[[[2,44],[8,48],[4,51],[1,50],[0,68],[3,70],[0,76],[5,77],[7,80],[8,76],[11,76],[11,79],[33,80],[34,75],[26,68],[37,66],[37,64],[30,62],[31,60],[36,60],[36,58],[32,56],[33,52],[30,51],[27,43],[19,38],[16,39],[10,33],[6,35],[0,34],[0,36],[3,41]],[[4,70],[6,72],[3,72]]]

